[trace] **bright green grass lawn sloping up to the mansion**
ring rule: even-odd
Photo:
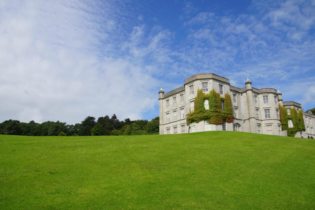
[[[315,140],[0,135],[0,209],[315,209]]]

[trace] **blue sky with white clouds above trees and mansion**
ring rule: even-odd
[[[158,116],[215,73],[315,107],[315,1],[1,1],[0,122]]]

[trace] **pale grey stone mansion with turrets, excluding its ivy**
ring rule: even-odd
[[[209,93],[214,89],[223,97],[231,95],[234,119],[232,123],[221,125],[209,124],[206,121],[186,124],[186,116],[194,110],[194,99],[198,89]],[[287,135],[282,131],[279,113],[279,104],[284,106],[288,114],[290,108],[302,110],[301,104],[293,101],[283,101],[281,92],[274,88],[252,87],[247,78],[245,87],[231,86],[229,79],[212,73],[196,74],[185,79],[183,86],[164,93],[159,91],[160,134],[193,133],[201,131],[242,131],[270,135]],[[206,104],[205,104],[206,108]],[[209,109],[209,105],[208,105]],[[295,137],[307,135],[315,137],[315,116],[303,111],[305,132],[299,131]],[[292,124],[292,122],[291,122]],[[289,122],[289,127],[290,125]]]

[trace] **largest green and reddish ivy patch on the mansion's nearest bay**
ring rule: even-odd
[[[204,101],[208,99],[209,109],[204,108]],[[221,103],[224,102],[224,111]],[[187,116],[187,125],[193,122],[207,121],[210,124],[220,125],[223,122],[233,122],[233,111],[230,94],[225,94],[224,98],[212,89],[209,94],[205,94],[202,90],[198,90],[194,101],[194,111]]]

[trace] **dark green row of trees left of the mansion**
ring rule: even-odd
[[[68,125],[66,122],[34,121],[20,122],[6,120],[0,123],[0,134],[23,136],[109,136],[109,135],[148,135],[159,133],[159,117],[148,120],[119,121],[113,114],[99,117],[87,116],[81,123]]]

